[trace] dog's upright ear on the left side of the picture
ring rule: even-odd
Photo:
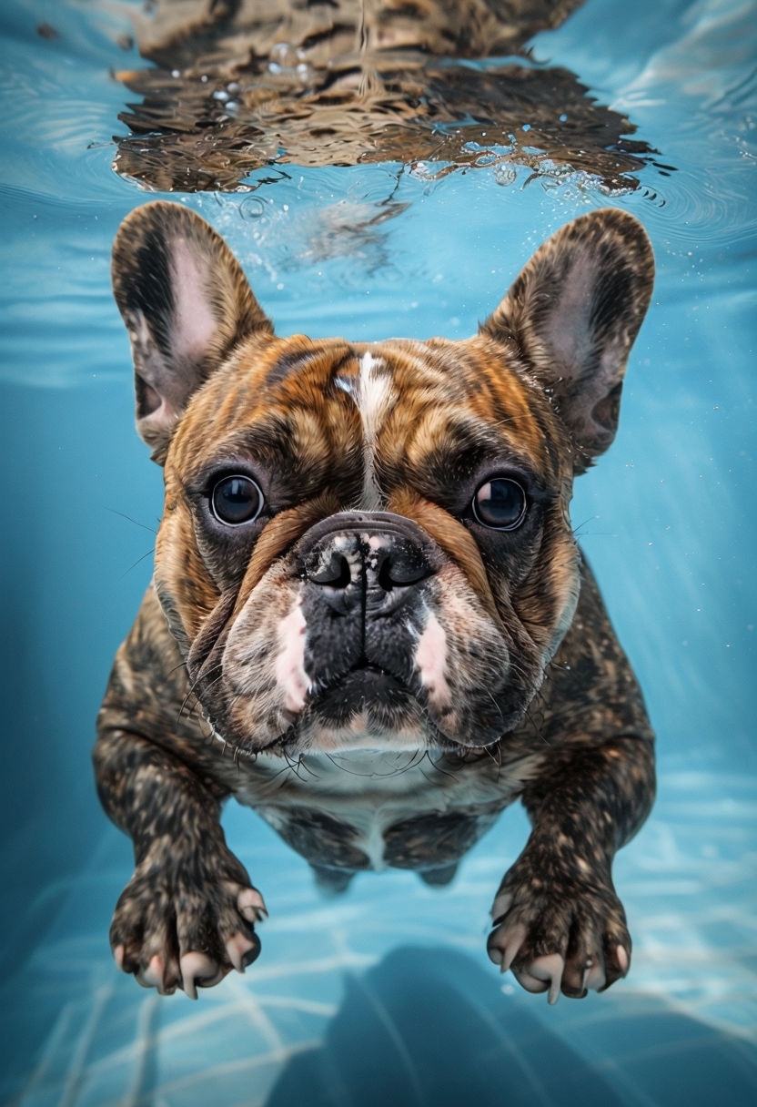
[[[238,342],[273,327],[224,239],[180,204],[146,204],[124,219],[112,277],[132,342],[137,430],[163,462],[191,394]]]

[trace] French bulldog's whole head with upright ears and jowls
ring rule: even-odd
[[[203,219],[128,216],[113,282],[165,469],[155,587],[220,738],[460,749],[518,725],[573,617],[572,480],[614,436],[652,272],[606,209],[466,341],[282,339]]]

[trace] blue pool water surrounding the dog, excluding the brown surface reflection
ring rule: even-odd
[[[554,1008],[484,949],[525,840],[519,809],[449,889],[394,872],[330,901],[229,807],[270,909],[260,960],[196,1004],[113,966],[131,847],[98,808],[89,757],[160,511],[108,282],[115,229],[147,198],[111,169],[128,94],[108,71],[125,64],[114,38],[128,7],[10,0],[0,14],[3,1101],[756,1103],[754,3],[588,0],[535,41],[675,166],[647,166],[635,193],[378,165],[187,198],[281,333],[355,339],[471,333],[532,249],[589,208],[618,204],[650,231],[659,277],[621,431],[579,482],[573,520],[645,690],[660,798],[615,866],[631,974]],[[43,20],[58,38],[35,33]],[[391,195],[404,211],[355,231]]]

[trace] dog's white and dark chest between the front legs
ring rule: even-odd
[[[488,757],[454,765],[421,754],[308,756],[281,773],[259,757],[236,798],[315,868],[421,872],[450,866],[489,829],[536,770]],[[283,777],[283,779],[282,779]]]

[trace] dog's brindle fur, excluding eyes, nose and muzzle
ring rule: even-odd
[[[186,297],[175,279],[178,257],[210,304],[212,334],[201,348],[177,340]],[[542,247],[476,338],[370,348],[397,386],[375,444],[382,506],[409,520],[411,534],[427,536],[436,559],[429,596],[439,613],[452,593],[434,592],[434,582],[452,573],[453,592],[469,587],[477,618],[502,627],[518,654],[510,679],[523,685],[522,710],[507,733],[489,737],[484,700],[463,683],[455,697],[470,706],[459,718],[453,713],[459,733],[445,731],[440,715],[442,730],[419,733],[415,753],[393,751],[390,737],[377,754],[341,754],[334,745],[319,749],[314,738],[308,746],[294,723],[266,741],[240,727],[222,691],[232,663],[225,651],[258,594],[256,618],[273,634],[298,587],[301,544],[319,520],[349,513],[361,496],[360,418],[348,392],[369,348],[277,339],[227,248],[186,209],[148,205],[126,220],[114,249],[114,287],[132,334],[138,426],[165,465],[166,513],[155,581],[116,656],[94,752],[103,806],[135,849],[135,875],[111,931],[125,971],[163,992],[194,994],[195,984],[215,983],[257,955],[253,924],[265,906],[219,825],[221,804],[234,795],[334,891],[354,872],[385,866],[415,869],[428,883],[448,881],[520,797],[532,831],[495,900],[492,960],[531,991],[549,987],[551,999],[558,986],[582,995],[625,974],[631,939],[611,865],[653,799],[653,735],[578,556],[567,507],[573,474],[614,434],[625,358],[651,280],[651,252],[635,220],[593,213]],[[582,311],[571,338],[571,313]],[[331,389],[335,380],[343,386]],[[450,441],[469,462],[471,452],[489,448],[495,430],[498,448],[517,448],[548,489],[542,508],[532,508],[539,531],[528,549],[477,532],[474,541],[470,526],[432,498],[447,495],[455,479]],[[271,496],[283,507],[257,529],[243,558],[193,523],[193,482],[224,442],[232,452],[252,443],[259,464],[272,465],[280,482]],[[303,503],[281,475],[282,449],[291,452]],[[455,613],[464,625],[467,618]],[[475,639],[468,645],[473,652],[458,665],[466,673],[478,664]]]

